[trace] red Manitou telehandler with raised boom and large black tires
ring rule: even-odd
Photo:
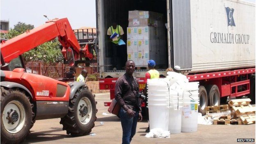
[[[96,121],[96,101],[85,82],[61,82],[26,73],[21,55],[58,37],[69,66],[92,59],[88,46],[81,48],[67,18],[47,21],[1,43],[1,144],[23,142],[34,122],[61,118],[72,136],[87,135]]]

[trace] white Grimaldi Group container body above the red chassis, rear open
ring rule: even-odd
[[[124,0],[120,2],[123,3]],[[157,0],[152,2],[159,3]],[[106,3],[103,0],[98,3],[101,54],[111,53],[104,32],[106,32],[105,27],[112,23],[112,19],[105,14],[105,11],[110,14],[113,9],[102,7],[102,4],[106,5]],[[120,6],[115,5],[115,7],[114,11],[120,12],[118,9]],[[128,6],[125,7],[128,9]],[[255,4],[242,0],[167,0],[161,7],[154,9],[149,7],[147,10],[160,12],[162,8],[167,9],[162,14],[168,28],[164,27],[165,32],[159,32],[159,34],[165,33],[159,35],[159,40],[160,37],[164,37],[166,43],[162,45],[160,41],[160,44],[156,41],[156,51],[160,52],[162,58],[160,62],[166,59],[166,64],[162,68],[180,66],[181,71],[189,74],[255,67]],[[130,9],[138,9],[138,7],[134,5]],[[114,14],[111,15],[114,17]],[[117,20],[122,22],[121,25],[127,25],[127,19],[121,17]],[[233,21],[232,25],[231,21]],[[156,26],[158,24],[155,22]],[[151,35],[147,36],[152,38]],[[145,38],[138,37],[139,39]],[[111,56],[100,55],[100,65],[111,65],[110,61],[106,60],[109,57]],[[103,66],[101,71],[106,72],[109,69],[110,67]],[[112,77],[116,76],[108,74]],[[144,74],[140,73],[137,76]]]

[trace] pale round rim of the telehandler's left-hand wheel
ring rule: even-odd
[[[18,133],[25,124],[25,108],[19,101],[10,101],[4,108],[2,122],[9,133]]]

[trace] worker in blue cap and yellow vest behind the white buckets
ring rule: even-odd
[[[148,68],[149,68],[149,71],[146,72],[146,75],[145,75],[145,89],[143,91],[144,95],[146,96],[146,99],[145,99],[145,112],[146,112],[146,115],[148,117],[148,121],[149,121],[149,108],[147,108],[147,101],[148,101],[148,97],[147,97],[147,85],[146,85],[146,82],[148,79],[153,79],[153,78],[159,78],[159,72],[157,70],[155,70],[155,61],[153,59],[149,60],[148,61]],[[149,127],[146,129],[146,133],[149,133],[150,129]]]

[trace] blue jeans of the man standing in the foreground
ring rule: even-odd
[[[123,128],[122,144],[130,144],[133,136],[136,133],[138,111],[136,109],[133,109],[133,111],[135,111],[135,117],[129,117],[127,112],[123,110],[123,108],[119,110],[118,115],[121,119],[121,125]]]

